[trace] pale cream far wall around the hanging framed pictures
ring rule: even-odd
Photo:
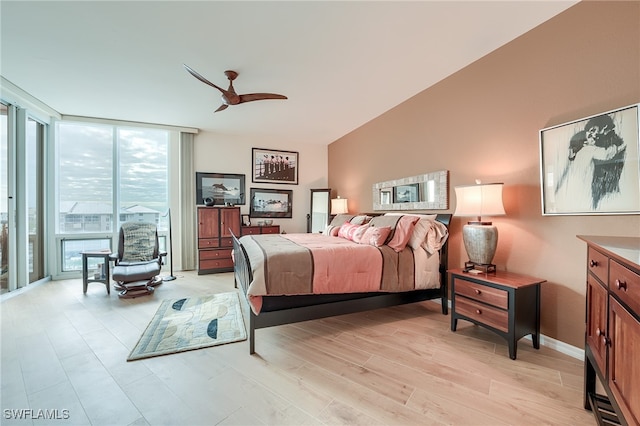
[[[249,214],[250,188],[272,188],[293,191],[291,219],[274,219],[275,225],[288,233],[306,232],[310,206],[309,191],[312,188],[327,187],[327,148],[324,145],[298,144],[261,136],[241,138],[233,135],[219,135],[200,132],[195,137],[194,167],[197,172],[239,173],[245,175],[247,204],[240,206],[242,214]],[[251,181],[251,149],[268,148],[298,152],[300,170],[298,185],[264,184]],[[253,219],[258,221],[260,219]]]

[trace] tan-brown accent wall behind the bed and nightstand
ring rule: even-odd
[[[586,247],[576,235],[640,236],[640,217],[543,217],[538,132],[640,101],[639,16],[637,1],[577,4],[332,143],[329,186],[352,212],[371,211],[373,183],[449,170],[453,212],[454,186],[504,182],[494,263],[548,280],[542,333],[584,347]],[[466,260],[464,222],[451,225],[451,267]]]

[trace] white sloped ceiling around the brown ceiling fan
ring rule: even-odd
[[[575,3],[3,0],[0,71],[64,115],[329,144]],[[289,99],[214,114],[183,63]]]

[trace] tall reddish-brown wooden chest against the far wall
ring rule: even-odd
[[[232,232],[240,235],[240,207],[198,207],[198,275],[233,271]]]

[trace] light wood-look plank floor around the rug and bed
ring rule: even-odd
[[[76,279],[4,300],[0,423],[595,424],[582,361],[529,340],[511,360],[431,301],[258,330],[253,356],[244,341],[126,362],[163,299],[235,291],[230,273],[176,275],[137,299]],[[20,409],[68,419],[8,418]]]

